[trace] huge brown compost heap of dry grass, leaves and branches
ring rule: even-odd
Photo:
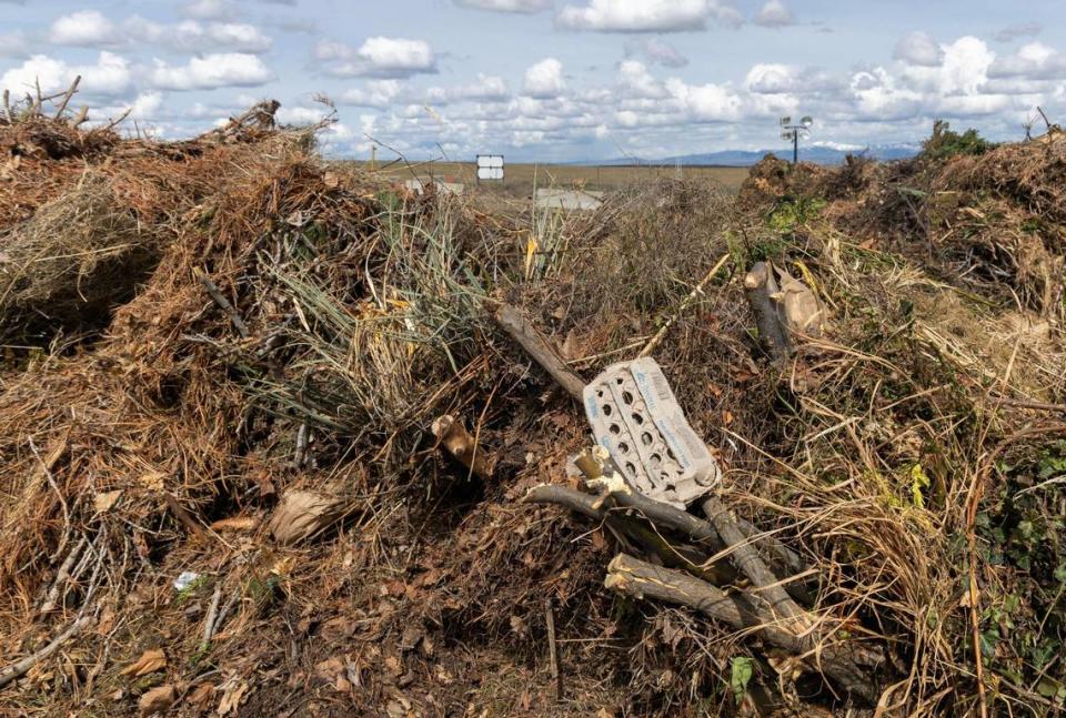
[[[1066,140],[500,216],[275,110],[0,120],[6,711],[1066,699]],[[817,331],[768,341],[761,270]],[[587,451],[637,355],[723,469],[687,513]]]

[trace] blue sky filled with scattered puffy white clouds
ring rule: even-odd
[[[82,75],[105,121],[193,134],[258,99],[336,108],[335,155],[565,161],[811,141],[917,142],[936,118],[1017,139],[1066,115],[1060,1],[0,0],[0,87]],[[382,155],[389,151],[383,150]]]

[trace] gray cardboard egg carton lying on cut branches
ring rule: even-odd
[[[655,360],[609,366],[585,386],[583,400],[596,443],[641,494],[685,506],[722,481]]]

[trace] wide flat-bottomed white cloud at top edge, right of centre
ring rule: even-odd
[[[596,32],[684,32],[703,30],[714,19],[738,27],[744,16],[724,0],[589,0],[566,6],[555,21],[567,30]]]

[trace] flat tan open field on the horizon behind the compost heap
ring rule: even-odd
[[[369,164],[369,163],[360,163]],[[467,188],[476,184],[473,162],[421,162],[404,164],[391,162],[376,164],[378,169],[398,180],[434,178],[444,182],[461,182]],[[533,186],[580,186],[585,190],[617,190],[633,184],[646,184],[656,178],[707,180],[720,184],[731,194],[736,193],[747,178],[747,168],[725,166],[585,166],[573,164],[507,164],[506,179],[501,182],[482,183],[483,189],[495,188],[500,193],[527,196]]]

